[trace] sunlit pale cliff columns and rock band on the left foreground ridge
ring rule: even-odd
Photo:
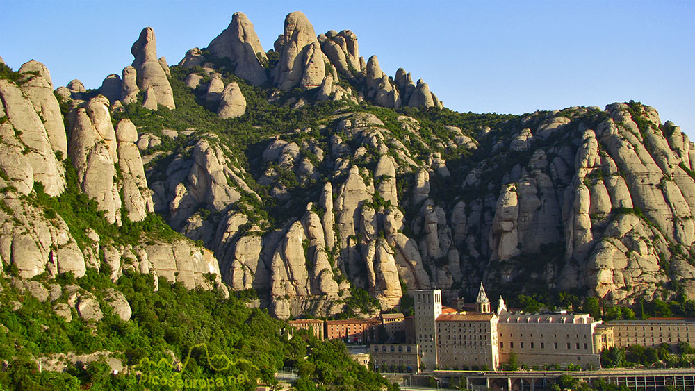
[[[66,132],[46,67],[32,60],[20,69],[15,81],[0,80],[3,266],[12,265],[17,276],[32,278],[64,272],[81,277],[88,267],[108,265],[114,281],[124,269],[133,269],[181,281],[191,289],[222,287],[211,251],[190,240],[151,237],[145,244],[124,245],[116,238],[101,238],[91,228],[71,231],[63,216],[42,203],[42,194],[83,193],[95,201],[105,222],[115,225],[122,223],[122,215],[140,222],[154,212],[133,123],[122,119],[114,128],[108,99],[101,95],[88,101],[68,98],[63,102],[72,107],[66,113]],[[74,190],[66,189],[67,161],[72,162],[67,169],[75,174]]]

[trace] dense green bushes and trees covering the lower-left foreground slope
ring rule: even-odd
[[[236,297],[224,299],[217,292],[186,290],[180,283],[171,284],[164,278],[159,281],[159,290],[153,292],[150,275],[126,272],[117,283],[112,283],[107,274],[95,269],[88,269],[82,278],[65,274],[47,282],[63,287],[76,283],[102,303],[106,289],[119,290],[133,310],[131,320],[123,322],[102,304],[105,317],[101,322],[85,322],[72,309],[72,322],[66,323],[51,310],[55,303],[67,303],[65,294],[54,303],[40,303],[30,294],[18,294],[8,280],[0,278],[1,302],[22,304],[19,310],[8,305],[0,307],[0,324],[6,327],[6,332],[0,333],[0,359],[8,362],[8,369],[0,372],[3,389],[140,390],[143,385],[151,389],[177,388],[147,383],[148,378],[160,376],[174,379],[170,385],[175,385],[179,378],[189,383],[212,378],[226,382],[227,390],[254,390],[256,379],[277,383],[274,374],[283,366],[300,369],[303,384],[318,385],[302,386],[302,390],[390,387],[384,378],[347,356],[341,342],[307,342],[300,335],[287,340],[283,336],[284,322],[272,319],[265,310],[247,308]],[[39,372],[35,363],[36,358],[51,353],[99,351],[112,352],[131,370],[114,375],[101,360],[85,367],[68,365],[63,373]],[[172,370],[172,358],[185,364],[180,372]],[[149,364],[160,360],[166,364]],[[134,371],[140,371],[142,376]],[[234,379],[231,383],[230,378]]]

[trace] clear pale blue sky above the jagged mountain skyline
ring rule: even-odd
[[[263,48],[303,11],[316,33],[354,31],[366,59],[423,78],[460,112],[530,113],[641,101],[695,139],[695,1],[15,1],[0,0],[0,56],[45,63],[54,85],[99,88],[143,27],[178,63],[236,11]]]

